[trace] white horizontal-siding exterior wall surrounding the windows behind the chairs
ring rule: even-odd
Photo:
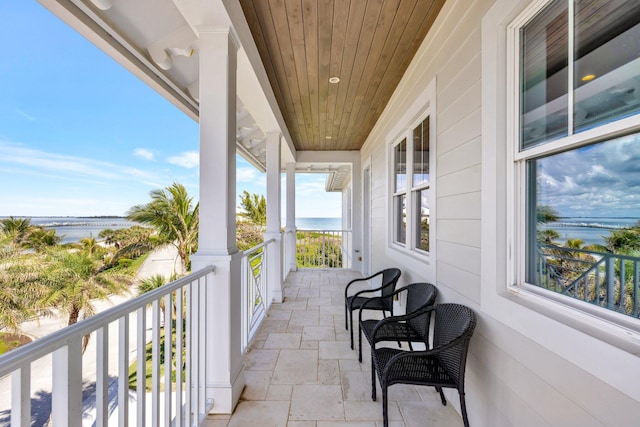
[[[491,230],[483,221],[496,222],[495,217],[482,218],[483,212],[491,212],[483,206],[501,203],[496,192],[486,191],[482,184],[483,148],[491,143],[482,138],[482,74],[489,65],[482,62],[482,18],[493,3],[447,1],[362,149],[362,164],[371,165],[371,226],[388,231],[385,138],[416,94],[436,79],[436,259],[430,265],[408,260],[389,248],[387,232],[375,232],[371,270],[399,266],[403,283],[435,273],[440,301],[469,305],[478,314],[466,377],[471,425],[637,425],[637,356],[508,301],[482,270],[492,261],[507,262],[487,260],[481,251],[486,242],[495,245],[498,238],[495,230],[481,233]],[[486,295],[504,301],[493,303]],[[458,405],[457,393],[447,396]]]

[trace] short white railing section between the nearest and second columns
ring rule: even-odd
[[[242,351],[244,351],[269,309],[268,260],[273,254],[274,239],[248,249],[242,254]]]

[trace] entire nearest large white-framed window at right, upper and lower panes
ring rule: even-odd
[[[638,318],[640,2],[538,4],[509,32],[517,281]]]

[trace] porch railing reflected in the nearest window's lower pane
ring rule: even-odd
[[[640,317],[640,258],[541,245],[537,264],[538,286]]]

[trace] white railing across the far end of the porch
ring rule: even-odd
[[[298,268],[351,268],[351,230],[297,230]]]

